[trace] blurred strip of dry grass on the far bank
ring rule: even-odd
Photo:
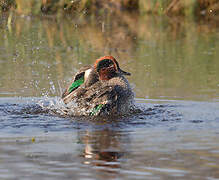
[[[0,0],[0,10],[19,14],[103,14],[105,12],[141,12],[159,15],[215,17],[218,0]]]

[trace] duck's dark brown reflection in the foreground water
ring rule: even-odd
[[[116,178],[121,168],[121,158],[129,151],[130,140],[127,134],[104,129],[79,132],[79,140],[84,144],[83,163],[95,167],[97,172]]]

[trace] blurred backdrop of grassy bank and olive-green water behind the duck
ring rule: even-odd
[[[0,96],[59,96],[111,54],[136,97],[218,100],[217,0],[1,0]]]

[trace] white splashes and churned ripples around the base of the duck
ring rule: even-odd
[[[55,116],[62,117],[86,117],[89,119],[90,111],[85,108],[79,108],[77,104],[72,101],[67,105],[62,101],[60,97],[49,98],[45,97],[37,103],[43,110],[43,112],[48,112]],[[92,117],[92,119],[132,119],[132,124],[141,124],[142,121],[156,119],[159,122],[164,121],[178,121],[181,120],[182,116],[180,113],[175,112],[174,108],[176,105],[162,104],[146,104],[133,102],[129,109],[126,109],[122,114],[108,114],[108,115],[98,115]],[[134,120],[133,120],[134,119]]]

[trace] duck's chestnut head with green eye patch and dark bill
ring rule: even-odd
[[[113,56],[103,56],[97,59],[94,64],[94,69],[98,73],[100,80],[109,80],[120,75],[131,75],[131,73],[120,69],[119,63]]]

